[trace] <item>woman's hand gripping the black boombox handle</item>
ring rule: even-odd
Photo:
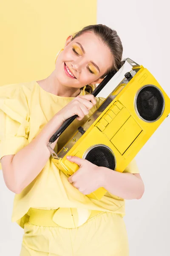
[[[71,116],[78,115],[77,119],[80,121],[96,103],[96,99],[92,94],[78,95],[62,108],[57,115],[62,116],[63,122]]]

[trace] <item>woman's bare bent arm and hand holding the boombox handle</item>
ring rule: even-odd
[[[77,119],[82,120],[94,105],[96,105],[96,99],[92,94],[75,97],[51,118],[28,145],[16,154],[3,156],[1,165],[8,189],[16,194],[22,192],[39,175],[47,163],[51,154],[47,144],[51,136],[69,117],[78,115]],[[53,149],[57,140],[51,144]]]

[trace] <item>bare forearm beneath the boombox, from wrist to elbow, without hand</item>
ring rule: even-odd
[[[113,195],[124,199],[140,199],[144,193],[144,183],[132,173],[116,172],[106,167],[99,167],[103,187]]]

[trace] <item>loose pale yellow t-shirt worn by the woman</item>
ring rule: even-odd
[[[81,90],[80,95],[84,91]],[[88,92],[85,91],[86,94]],[[43,126],[74,97],[61,97],[42,89],[36,81],[0,86],[0,158],[17,154],[42,130]],[[96,97],[97,104],[83,120],[77,119],[60,135],[54,148],[58,152],[74,135],[104,98]],[[68,134],[68,136],[67,136]],[[26,163],[27,164],[27,163]],[[133,159],[124,172],[139,173]],[[125,215],[125,200],[109,192],[98,201],[88,198],[74,188],[68,177],[49,157],[39,175],[20,194],[14,197],[11,221],[21,227],[28,221],[29,209],[58,209],[72,207],[116,212]]]

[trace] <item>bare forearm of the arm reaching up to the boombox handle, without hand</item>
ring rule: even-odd
[[[14,155],[11,162],[14,180],[11,182],[14,183],[15,193],[20,193],[42,171],[51,154],[47,147],[49,139],[63,122],[62,116],[57,113],[26,147]],[[57,140],[51,148],[54,149]]]

